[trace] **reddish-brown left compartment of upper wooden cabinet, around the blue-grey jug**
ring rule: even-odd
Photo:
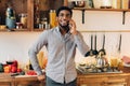
[[[21,17],[26,17],[25,22],[29,20],[28,17],[28,8],[29,8],[29,2],[31,0],[1,0],[0,1],[0,26],[5,26],[5,18],[6,18],[6,9],[9,8],[8,4],[12,5],[12,9],[14,11],[14,16],[15,16],[15,26],[16,24],[21,23]],[[29,30],[30,24],[27,23],[26,27],[22,27],[15,30]],[[15,27],[16,28],[16,27]],[[6,31],[6,27],[2,28],[0,27],[0,31]]]

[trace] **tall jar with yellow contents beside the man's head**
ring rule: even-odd
[[[56,13],[55,10],[50,10],[50,26],[54,28],[56,26]]]

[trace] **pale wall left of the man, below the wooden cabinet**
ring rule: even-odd
[[[0,62],[28,63],[28,48],[40,32],[0,32]]]

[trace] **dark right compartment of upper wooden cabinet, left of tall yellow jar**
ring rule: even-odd
[[[63,0],[34,1],[34,30],[43,30],[50,23],[50,10],[57,10],[64,4]],[[46,24],[44,24],[46,22]]]

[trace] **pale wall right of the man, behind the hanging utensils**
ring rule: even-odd
[[[82,12],[74,11],[73,18],[76,20],[77,29],[83,31],[84,40],[88,45],[90,44],[90,35],[98,34],[98,49],[102,48],[102,40],[103,34],[106,35],[105,48],[107,53],[107,57],[117,56],[118,52],[118,43],[119,43],[119,34],[122,35],[121,42],[121,52],[120,57],[130,56],[130,12],[126,13],[125,16],[125,25],[122,24],[122,12],[114,12],[114,11],[86,11],[84,12],[84,24],[82,24]],[[87,30],[92,30],[93,32],[86,32]],[[101,30],[103,32],[96,32],[94,30]],[[126,30],[126,32],[107,32],[107,31],[116,31],[116,30]],[[77,57],[82,57],[78,52]],[[80,59],[76,59],[80,60]]]

